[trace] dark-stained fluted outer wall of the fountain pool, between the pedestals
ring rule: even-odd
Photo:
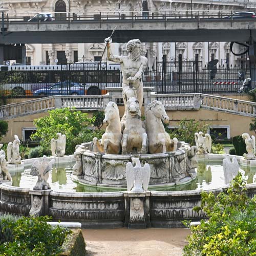
[[[256,184],[247,185],[249,196],[256,194]],[[28,216],[31,197],[28,189],[0,185],[0,212]],[[218,194],[222,188],[209,190]],[[30,190],[31,192],[31,190]],[[127,191],[110,193],[65,193],[49,191],[49,208],[45,212],[54,220],[81,222],[83,228],[119,228],[127,226],[130,206]],[[193,207],[201,205],[201,191],[147,191],[147,227],[183,227],[182,221],[206,218],[203,211]],[[147,200],[147,199],[146,199]]]

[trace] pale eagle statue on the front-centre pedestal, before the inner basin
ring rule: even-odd
[[[148,183],[150,183],[150,165],[148,163],[144,164],[144,167],[141,167],[140,159],[134,158],[133,163],[128,162],[126,164],[126,181],[127,181],[127,190],[132,192],[140,193],[144,190],[147,190]],[[143,188],[142,189],[142,184]]]

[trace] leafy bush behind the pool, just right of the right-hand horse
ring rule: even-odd
[[[166,128],[165,130],[169,133],[171,139],[176,137],[178,140],[185,141],[190,145],[195,145],[195,133],[198,133],[199,131],[206,133],[208,126],[208,124],[195,121],[195,119],[182,119],[179,123],[179,127],[175,129],[174,132],[170,132],[169,129]]]

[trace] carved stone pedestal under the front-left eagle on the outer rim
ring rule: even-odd
[[[30,216],[49,215],[49,195],[52,189],[47,190],[29,190],[31,195]]]

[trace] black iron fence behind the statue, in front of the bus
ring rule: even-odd
[[[10,97],[98,95],[121,87],[120,65],[81,62],[58,66],[11,66],[0,71],[0,93]],[[255,71],[252,67],[251,70]],[[202,61],[157,61],[143,75],[157,93],[237,93],[250,77],[248,66],[203,66]],[[251,81],[249,88],[255,87]]]

